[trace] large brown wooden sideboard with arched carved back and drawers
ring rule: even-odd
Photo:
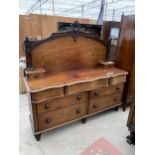
[[[34,136],[121,105],[127,72],[105,67],[96,34],[74,23],[43,40],[25,40],[25,84]],[[60,46],[61,45],[61,46]]]

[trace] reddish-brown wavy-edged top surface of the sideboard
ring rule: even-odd
[[[30,92],[38,92],[50,88],[69,86],[76,83],[90,82],[98,79],[126,75],[118,68],[92,68],[48,74],[40,79],[25,80]]]

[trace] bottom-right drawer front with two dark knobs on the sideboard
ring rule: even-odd
[[[92,99],[89,102],[89,113],[93,113],[102,110],[104,108],[117,105],[121,102],[121,99],[122,99],[122,93]]]

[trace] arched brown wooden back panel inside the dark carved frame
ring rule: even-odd
[[[106,49],[98,40],[79,36],[74,41],[67,36],[38,45],[31,56],[33,67],[42,67],[53,73],[95,67],[100,60],[105,60]]]

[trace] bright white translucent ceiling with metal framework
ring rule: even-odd
[[[122,13],[134,14],[134,0],[104,1],[106,20],[120,21]],[[19,14],[34,13],[97,20],[100,7],[101,0],[19,0]]]

